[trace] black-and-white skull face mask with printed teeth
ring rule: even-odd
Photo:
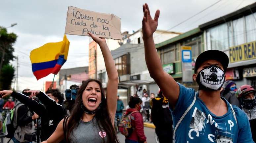
[[[224,81],[225,74],[222,69],[215,65],[210,65],[202,69],[196,77],[199,84],[199,90],[220,90]]]

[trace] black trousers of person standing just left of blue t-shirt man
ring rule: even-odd
[[[169,126],[169,125],[168,125]],[[155,133],[160,143],[172,143],[172,126],[171,128],[155,128]]]

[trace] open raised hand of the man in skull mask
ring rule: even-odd
[[[142,20],[142,33],[143,33],[143,38],[145,39],[153,36],[153,33],[156,31],[160,11],[157,10],[155,12],[154,19],[152,19],[149,11],[149,6],[147,3],[145,3],[143,5],[143,13],[144,13],[144,17]]]

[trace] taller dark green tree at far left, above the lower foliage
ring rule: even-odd
[[[9,64],[10,60],[13,60],[13,44],[17,39],[17,35],[14,33],[7,33],[7,29],[0,27],[0,75],[2,67],[5,64]]]

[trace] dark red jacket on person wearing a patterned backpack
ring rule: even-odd
[[[127,109],[125,114],[127,115],[133,111],[137,111],[137,110],[136,109]],[[126,139],[139,141],[139,142],[146,141],[147,138],[144,134],[144,125],[143,125],[142,114],[140,112],[132,113],[131,122],[132,122],[132,127],[134,128],[134,131]]]

